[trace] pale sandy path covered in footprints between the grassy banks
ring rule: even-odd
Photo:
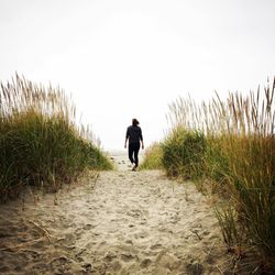
[[[57,194],[0,207],[0,274],[221,274],[227,255],[208,199],[160,170],[102,172]]]

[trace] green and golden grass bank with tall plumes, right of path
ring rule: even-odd
[[[161,146],[167,175],[200,178],[220,195],[216,213],[228,246],[255,249],[263,266],[275,258],[274,94],[275,78],[248,96],[180,97],[169,105]]]

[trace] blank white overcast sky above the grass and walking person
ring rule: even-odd
[[[145,145],[161,140],[178,96],[275,75],[274,0],[0,0],[0,80],[59,85],[105,148],[134,117]]]

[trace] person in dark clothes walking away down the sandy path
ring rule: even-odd
[[[132,119],[132,125],[128,127],[127,129],[127,138],[124,144],[124,147],[127,148],[127,142],[129,141],[128,156],[133,165],[132,170],[135,170],[139,166],[139,151],[141,145],[142,148],[144,148],[142,130],[139,124],[140,122],[138,119]]]

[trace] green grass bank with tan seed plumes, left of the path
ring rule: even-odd
[[[15,76],[0,90],[0,200],[25,185],[56,189],[85,168],[111,168],[59,88]],[[95,140],[95,139],[94,139]]]

